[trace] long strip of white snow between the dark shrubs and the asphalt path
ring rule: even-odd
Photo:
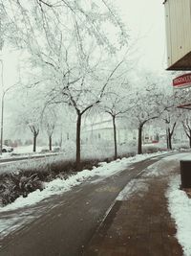
[[[75,185],[78,185],[88,178],[95,176],[96,182],[101,179],[104,179],[110,175],[115,175],[133,163],[138,161],[150,158],[150,157],[157,157],[166,152],[158,152],[152,154],[142,154],[136,155],[135,157],[123,158],[121,160],[113,161],[111,163],[100,163],[99,167],[95,168],[92,171],[84,170],[76,175],[72,175],[67,180],[57,178],[49,183],[46,183],[46,188],[43,191],[35,191],[32,192],[27,198],[17,198],[14,202],[10,205],[5,207],[0,207],[0,233],[1,238],[7,236],[13,230],[19,228],[24,223],[27,223],[32,220],[32,217],[37,214],[36,209],[34,212],[31,212],[31,208],[24,209],[25,206],[35,206],[37,202],[49,198],[53,195],[59,195],[66,191],[71,190]],[[95,181],[94,181],[95,182]],[[18,215],[15,210],[19,210],[21,215],[24,216],[22,221],[20,221],[20,214]],[[7,218],[7,215],[11,216],[10,221]],[[23,221],[25,220],[25,221]]]

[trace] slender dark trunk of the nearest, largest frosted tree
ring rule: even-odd
[[[77,114],[77,123],[76,123],[76,171],[80,170],[80,154],[81,154],[81,144],[80,144],[80,135],[81,135],[81,114]]]

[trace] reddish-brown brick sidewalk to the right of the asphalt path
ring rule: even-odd
[[[84,255],[183,255],[165,197],[169,177],[178,172],[174,170],[168,175],[139,177],[138,186],[142,188],[128,198],[116,201],[85,248]]]

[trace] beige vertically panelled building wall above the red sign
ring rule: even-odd
[[[191,0],[165,1],[168,67],[191,52]]]

